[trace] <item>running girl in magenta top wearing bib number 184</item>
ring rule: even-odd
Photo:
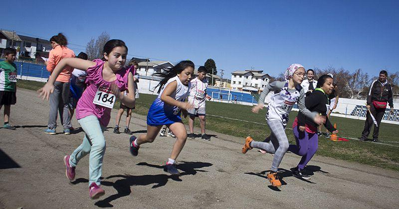
[[[100,187],[105,153],[103,132],[109,123],[115,100],[118,98],[129,107],[135,105],[133,84],[128,84],[128,78],[125,76],[129,71],[123,67],[127,53],[128,48],[125,42],[112,39],[104,45],[104,57],[101,60],[63,59],[55,67],[44,87],[38,90],[40,96],[48,100],[49,95],[54,91],[55,79],[66,66],[87,72],[87,88],[76,107],[76,118],[86,135],[82,144],[71,155],[64,157],[64,163],[66,177],[72,181],[75,178],[76,165],[90,153],[89,195],[92,199],[105,194]],[[129,80],[133,81],[132,78]],[[129,90],[128,96],[125,96],[121,91],[125,91],[128,85],[132,87],[132,90]]]

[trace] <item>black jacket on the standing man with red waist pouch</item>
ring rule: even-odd
[[[372,105],[372,101],[388,102],[390,107],[394,107],[392,88],[388,81],[385,81],[385,83],[382,84],[378,79],[376,79],[371,83],[369,94],[367,95],[367,104]]]

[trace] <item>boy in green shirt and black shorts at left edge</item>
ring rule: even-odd
[[[9,124],[9,114],[11,104],[16,103],[16,65],[14,63],[16,50],[6,48],[4,55],[5,60],[0,62],[0,110],[4,105],[3,128],[14,130],[15,127]]]

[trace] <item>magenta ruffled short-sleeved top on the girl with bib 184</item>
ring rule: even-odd
[[[76,105],[76,119],[82,119],[88,115],[95,115],[100,124],[107,126],[111,118],[111,108],[104,107],[98,104],[93,104],[94,97],[99,87],[111,86],[111,83],[115,83],[121,92],[125,91],[128,86],[128,70],[126,68],[120,69],[116,72],[116,80],[108,82],[103,79],[102,72],[104,61],[100,59],[93,60],[96,63],[95,66],[87,69],[86,77],[86,90],[83,92],[82,97],[79,99]],[[134,69],[134,68],[133,68]],[[129,69],[130,70],[130,69]]]

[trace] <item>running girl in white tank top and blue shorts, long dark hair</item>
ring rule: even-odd
[[[133,156],[137,156],[140,145],[153,142],[163,125],[172,130],[176,135],[176,142],[164,169],[172,175],[180,175],[174,164],[187,140],[187,131],[180,112],[183,111],[186,117],[186,110],[192,107],[184,101],[190,93],[190,80],[193,73],[194,63],[182,61],[166,73],[155,74],[164,79],[158,84],[159,95],[148,110],[147,134],[141,134],[137,138],[134,135],[130,137],[130,152]]]

